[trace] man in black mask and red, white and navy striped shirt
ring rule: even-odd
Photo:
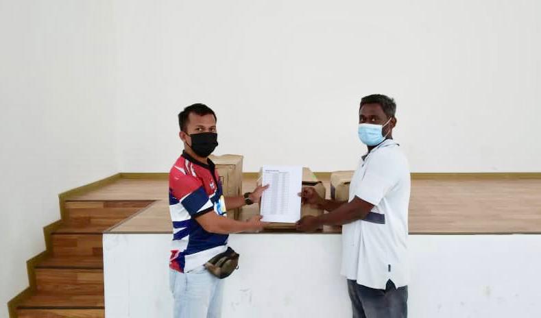
[[[214,163],[208,159],[218,145],[215,113],[197,103],[180,112],[178,122],[184,151],[169,172],[173,316],[221,317],[223,280],[209,273],[204,264],[226,252],[228,234],[263,230],[266,224],[261,216],[235,221],[226,217],[226,209],[259,202],[267,186],[258,186],[243,197],[224,197]]]

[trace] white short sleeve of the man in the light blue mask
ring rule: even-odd
[[[381,199],[398,182],[398,173],[396,173],[396,162],[392,154],[383,153],[374,154],[370,162],[366,163],[366,169],[360,182],[357,182],[354,195],[370,204],[377,206]]]

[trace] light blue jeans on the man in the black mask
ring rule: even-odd
[[[169,269],[174,318],[220,318],[224,280],[204,266],[187,273]]]

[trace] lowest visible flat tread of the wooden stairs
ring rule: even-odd
[[[23,300],[17,307],[29,308],[104,308],[104,293],[69,295],[60,293],[36,293]]]

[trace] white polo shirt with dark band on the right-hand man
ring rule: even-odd
[[[394,140],[385,140],[361,160],[349,201],[359,197],[374,208],[365,219],[342,228],[341,275],[372,289],[385,289],[387,280],[397,288],[408,284],[410,188],[408,162]]]

